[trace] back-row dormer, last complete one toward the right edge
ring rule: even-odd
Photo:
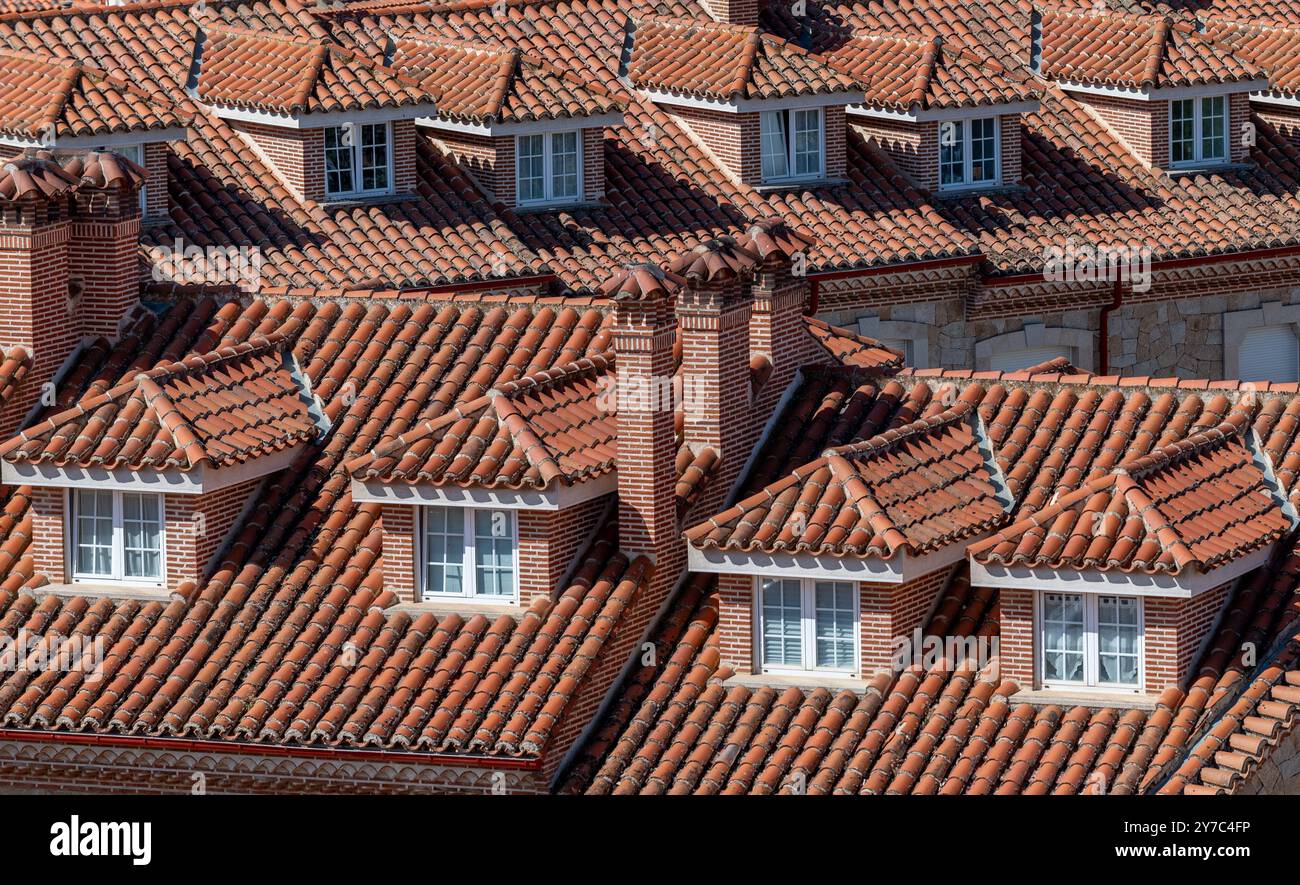
[[[1148,166],[1240,161],[1249,94],[1268,75],[1173,16],[1043,8],[1032,69],[1080,101]]]

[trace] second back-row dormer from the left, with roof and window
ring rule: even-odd
[[[192,95],[230,122],[303,200],[415,190],[415,121],[433,91],[334,43],[209,29]]]

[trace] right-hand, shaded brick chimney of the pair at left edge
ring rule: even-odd
[[[81,182],[68,247],[81,331],[112,340],[139,303],[139,190],[148,173],[126,157],[98,152],[73,156],[64,168]]]

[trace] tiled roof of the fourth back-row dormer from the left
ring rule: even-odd
[[[636,19],[628,77],[641,88],[722,100],[858,88],[806,49],[755,27],[659,16]]]

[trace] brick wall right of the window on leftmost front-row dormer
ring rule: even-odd
[[[162,496],[168,589],[207,576],[213,556],[230,538],[259,483],[260,480],[248,480],[209,495]]]

